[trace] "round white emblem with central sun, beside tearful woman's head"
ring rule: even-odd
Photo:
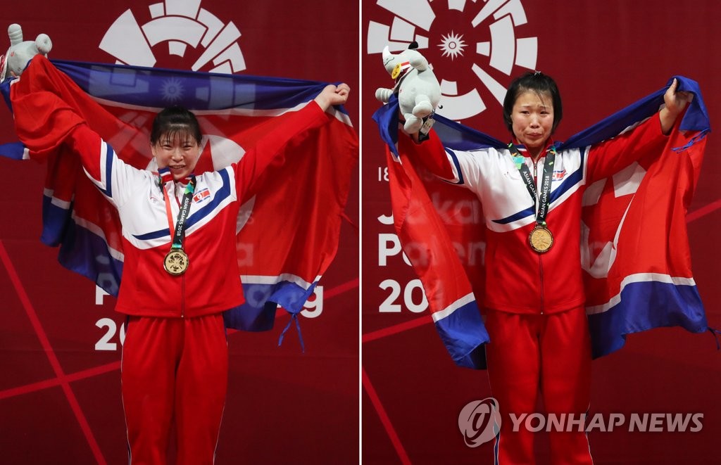
[[[493,99],[503,105],[511,74],[536,68],[537,37],[518,31],[527,22],[521,0],[377,0],[376,5],[378,20],[368,23],[366,52],[381,53],[386,45],[397,52],[417,42],[430,66],[435,64],[443,95],[438,113],[449,119],[474,117]]]

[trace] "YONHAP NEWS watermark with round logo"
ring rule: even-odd
[[[487,443],[500,431],[502,405],[493,397],[474,400],[466,404],[458,417],[458,427],[466,446],[477,447]],[[697,433],[704,427],[704,414],[700,412],[645,412],[645,413],[509,413],[511,429],[539,433],[541,431],[612,432],[629,433]],[[507,426],[508,428],[508,426]]]

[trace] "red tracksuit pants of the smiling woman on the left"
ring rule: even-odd
[[[177,430],[177,464],[212,464],[228,385],[223,316],[130,317],[121,381],[131,465],[167,462]]]

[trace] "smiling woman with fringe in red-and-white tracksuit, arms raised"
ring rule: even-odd
[[[42,82],[57,89],[38,88]],[[166,463],[174,422],[177,463],[212,464],[228,379],[223,312],[244,302],[240,203],[265,168],[280,162],[283,148],[332,121],[326,110],[344,104],[350,89],[326,86],[278,117],[241,161],[197,175],[203,135],[192,112],[170,107],[156,115],[149,151],[158,172],[138,170],[91,129],[74,99],[58,97],[74,89],[45,58],[35,58],[12,86],[15,126],[31,153],[79,156],[118,210],[124,266],[116,310],[128,315],[121,381],[130,463]]]

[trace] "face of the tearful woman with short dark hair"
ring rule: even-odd
[[[553,127],[553,100],[547,92],[523,91],[510,114],[513,135],[533,155],[546,147]]]

